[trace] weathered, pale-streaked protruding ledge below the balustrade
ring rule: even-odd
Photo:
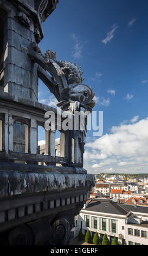
[[[29,192],[63,191],[69,188],[90,187],[95,185],[94,176],[91,174],[1,171],[0,176],[0,197],[14,196],[16,194]]]

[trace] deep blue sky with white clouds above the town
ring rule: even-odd
[[[147,11],[147,0],[59,0],[42,23],[43,53],[80,65],[104,113],[102,136],[87,132],[88,173],[148,173]],[[41,81],[38,100],[56,107]]]

